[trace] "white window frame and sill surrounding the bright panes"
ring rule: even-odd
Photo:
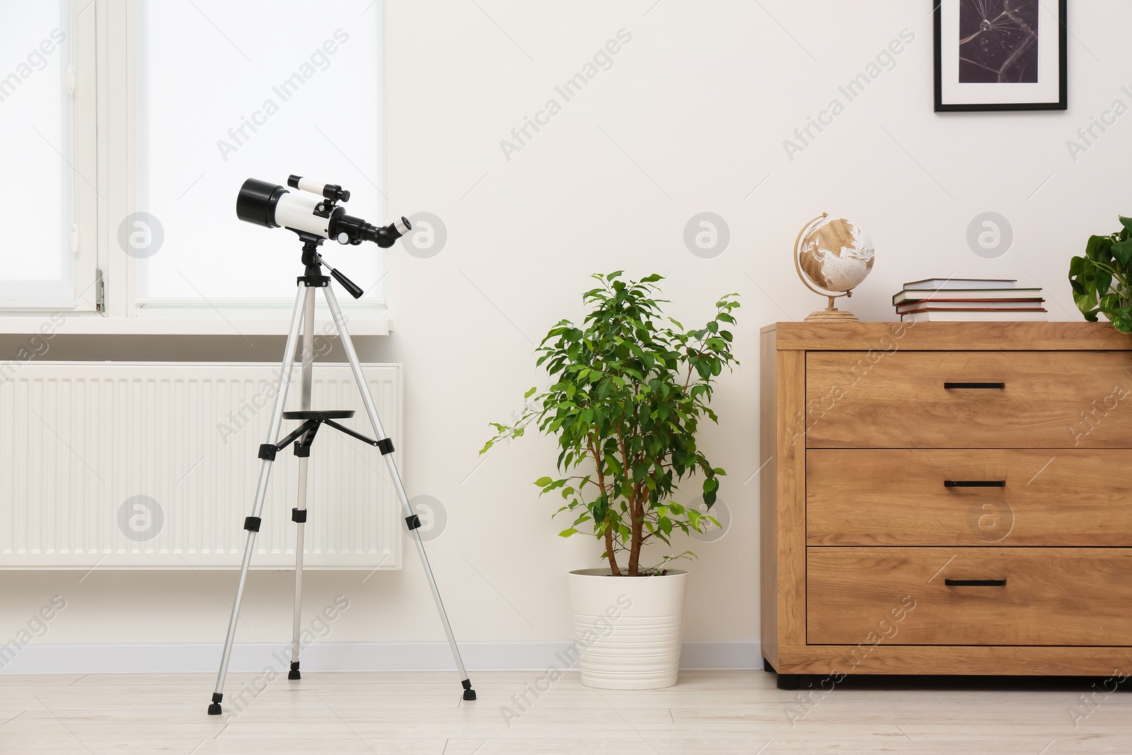
[[[139,301],[136,260],[118,243],[117,229],[136,211],[137,131],[135,0],[72,0],[74,169],[79,254],[76,300],[2,302],[0,333],[34,333],[44,311],[61,312],[68,333],[274,335],[286,332],[293,299],[204,302]],[[380,3],[385,12],[385,3]],[[383,18],[381,76],[385,77]],[[386,103],[381,117],[386,118]],[[386,151],[383,123],[383,154]],[[381,195],[386,190],[383,158]],[[383,207],[383,213],[387,211]],[[301,271],[300,271],[301,272]],[[384,276],[383,276],[384,277]],[[340,299],[354,335],[389,332],[384,282],[377,300]],[[82,294],[82,295],[79,295]]]

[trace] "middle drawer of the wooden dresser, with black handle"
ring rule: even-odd
[[[1108,448],[809,449],[806,543],[1132,547],[1127,464]]]

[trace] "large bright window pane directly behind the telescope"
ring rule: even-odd
[[[289,306],[301,244],[239,222],[237,192],[248,178],[307,175],[383,221],[380,8],[156,0],[138,12],[138,302]],[[379,300],[376,246],[324,248]]]

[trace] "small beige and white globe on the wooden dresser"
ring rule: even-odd
[[[806,321],[856,320],[833,301],[852,295],[873,269],[873,241],[856,223],[825,213],[806,223],[794,242],[794,266],[807,289],[830,300],[829,307]]]

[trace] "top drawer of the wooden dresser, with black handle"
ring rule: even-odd
[[[1127,448],[1132,354],[809,352],[811,448]]]

